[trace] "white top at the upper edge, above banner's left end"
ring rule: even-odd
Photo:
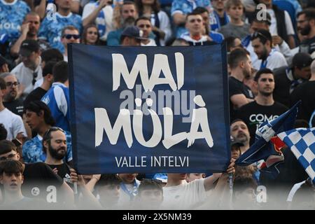
[[[82,13],[82,20],[87,18],[95,9],[97,8],[97,3],[92,2],[92,3],[87,3],[84,8],[83,8],[83,13]],[[102,8],[103,13],[104,13],[104,18],[97,18],[95,19],[96,25],[105,25],[106,26],[106,31],[104,35],[100,36],[99,38],[102,41],[106,41],[107,35],[109,34],[110,31],[113,31],[113,7],[111,6],[105,6]]]

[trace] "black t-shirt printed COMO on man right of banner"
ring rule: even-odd
[[[237,118],[244,120],[246,123],[249,134],[251,134],[250,144],[253,144],[258,126],[267,120],[279,117],[286,111],[288,111],[288,108],[278,102],[274,102],[272,106],[262,106],[254,101],[241,106],[239,111],[237,111]]]

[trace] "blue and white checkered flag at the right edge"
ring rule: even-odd
[[[291,149],[315,184],[315,127],[281,132],[278,137]]]

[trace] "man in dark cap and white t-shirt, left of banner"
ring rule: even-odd
[[[20,82],[20,92],[29,94],[34,89],[36,80],[42,78],[41,50],[35,40],[27,39],[20,48],[22,62],[10,71]]]

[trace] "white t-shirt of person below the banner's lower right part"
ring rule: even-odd
[[[204,179],[163,188],[162,209],[193,209],[207,199]]]

